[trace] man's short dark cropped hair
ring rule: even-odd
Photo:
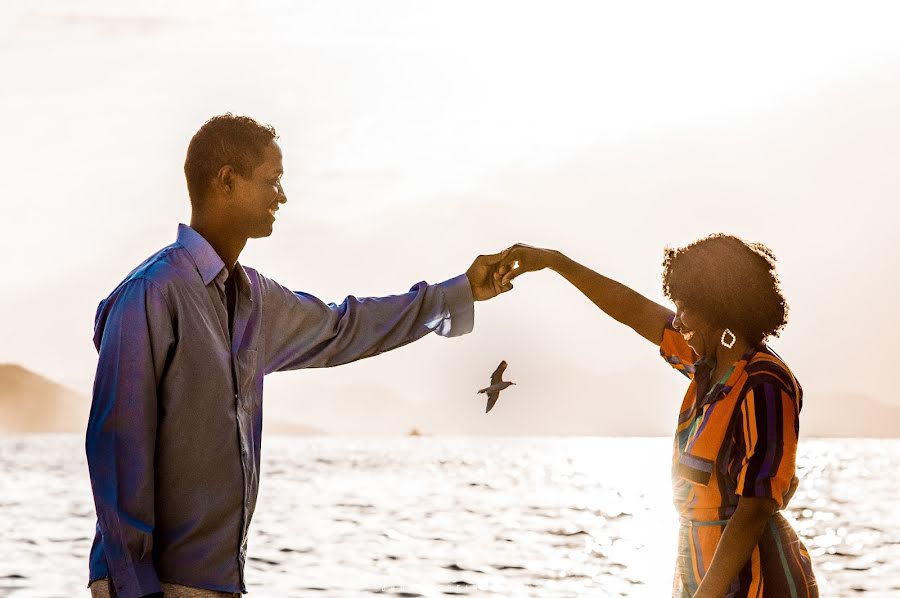
[[[275,128],[249,116],[230,112],[206,121],[191,138],[184,160],[191,204],[198,206],[209,191],[209,185],[226,164],[243,177],[263,160],[263,150],[278,139]]]

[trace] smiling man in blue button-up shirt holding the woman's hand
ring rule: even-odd
[[[340,305],[292,292],[238,256],[287,202],[270,126],[226,114],[194,135],[191,225],[100,303],[86,451],[97,509],[94,596],[246,591],[263,376],[330,367],[431,331],[471,331],[473,301],[508,290],[480,256],[465,275]]]

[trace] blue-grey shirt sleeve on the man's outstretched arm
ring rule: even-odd
[[[419,282],[403,295],[349,296],[326,304],[260,276],[266,373],[331,367],[402,347],[430,332],[472,331],[474,302],[465,274]]]

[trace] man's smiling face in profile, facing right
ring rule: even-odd
[[[248,178],[236,174],[234,193],[229,201],[232,225],[242,236],[250,239],[272,234],[275,212],[287,202],[281,187],[281,148],[272,141],[263,151],[262,162]]]

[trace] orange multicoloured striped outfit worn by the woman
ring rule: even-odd
[[[672,487],[681,525],[673,598],[697,591],[741,496],[768,497],[778,510],[797,489],[794,475],[802,390],[765,345],[751,348],[708,390],[697,361],[670,324],[660,353],[691,379],[681,405],[672,457]],[[700,396],[700,394],[703,396]],[[809,552],[784,517],[769,519],[726,598],[812,598],[818,587]]]

